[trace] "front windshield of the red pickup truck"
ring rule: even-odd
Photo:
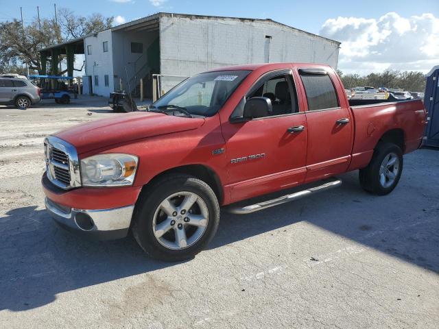
[[[250,71],[217,71],[189,77],[158,99],[150,109],[178,110],[213,116]]]

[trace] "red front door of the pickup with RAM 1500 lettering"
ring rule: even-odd
[[[270,98],[273,112],[244,123],[222,123],[232,202],[289,188],[305,179],[307,123],[298,107],[291,71],[263,75],[238,107],[252,97]]]

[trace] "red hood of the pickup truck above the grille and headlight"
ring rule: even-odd
[[[78,154],[142,138],[184,132],[200,127],[202,118],[176,117],[163,113],[132,112],[75,125],[54,134],[76,147]]]

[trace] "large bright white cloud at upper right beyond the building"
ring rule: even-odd
[[[328,19],[320,35],[342,42],[339,69],[370,73],[385,69],[427,72],[439,64],[439,19],[433,14],[379,19]]]

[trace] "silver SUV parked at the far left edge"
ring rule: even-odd
[[[0,104],[29,108],[40,101],[40,88],[26,79],[0,77]]]

